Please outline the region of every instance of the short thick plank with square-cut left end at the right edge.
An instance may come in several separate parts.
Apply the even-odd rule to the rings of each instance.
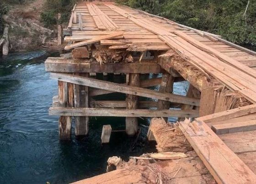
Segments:
[[[256,120],[212,125],[212,130],[216,134],[235,133],[235,132],[256,130]]]

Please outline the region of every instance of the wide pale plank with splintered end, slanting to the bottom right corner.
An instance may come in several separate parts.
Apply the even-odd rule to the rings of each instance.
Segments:
[[[185,120],[179,127],[219,184],[256,181],[251,169],[204,122]]]

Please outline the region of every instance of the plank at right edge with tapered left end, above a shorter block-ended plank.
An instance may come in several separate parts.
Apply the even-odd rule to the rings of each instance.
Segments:
[[[256,112],[256,104],[234,108],[224,112],[217,112],[207,116],[197,118],[198,121],[204,121],[205,123],[215,122],[215,121],[224,121],[231,118],[237,118],[240,116],[245,116],[247,114]]]

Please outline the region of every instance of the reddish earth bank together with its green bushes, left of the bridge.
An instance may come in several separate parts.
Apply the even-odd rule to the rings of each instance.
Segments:
[[[57,24],[69,21],[75,2],[76,0],[1,0],[0,38],[5,24],[8,24],[10,51],[30,51],[41,47],[60,49],[56,39]],[[62,15],[60,21],[58,13]]]

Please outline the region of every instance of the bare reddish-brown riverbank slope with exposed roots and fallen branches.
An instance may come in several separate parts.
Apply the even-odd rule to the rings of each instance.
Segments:
[[[9,26],[9,51],[32,51],[42,48],[62,50],[58,46],[57,25],[53,30],[43,27],[40,14],[45,0],[30,0],[24,4],[8,5],[9,12],[3,16]]]

